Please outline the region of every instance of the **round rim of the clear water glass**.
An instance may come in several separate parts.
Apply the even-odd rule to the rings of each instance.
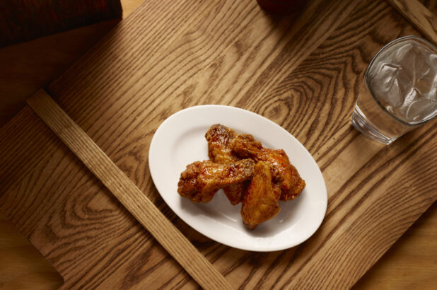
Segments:
[[[422,44],[428,45],[429,47],[431,47],[431,49],[435,50],[437,53],[437,47],[436,45],[433,45],[431,42],[429,42],[428,40],[425,40],[419,36],[416,35],[407,35],[407,36],[403,36],[400,38],[397,38],[395,40],[392,40],[390,42],[388,42],[388,44],[384,45],[380,50],[378,50],[378,52],[376,52],[376,54],[373,56],[371,62],[368,64],[366,72],[364,74],[364,81],[366,81],[366,86],[368,88],[368,91],[371,93],[373,100],[375,100],[375,102],[380,106],[381,109],[383,109],[383,111],[385,113],[387,113],[390,117],[392,117],[393,119],[395,119],[397,122],[400,122],[402,124],[404,124],[407,127],[416,127],[419,126],[421,124],[426,124],[427,122],[430,122],[434,119],[436,119],[437,114],[434,115],[433,117],[423,120],[421,122],[416,122],[414,124],[411,124],[409,122],[405,122],[404,120],[401,120],[400,118],[396,117],[395,115],[392,115],[392,113],[390,113],[387,109],[385,109],[385,107],[383,106],[383,104],[380,103],[380,101],[375,97],[375,94],[373,93],[373,89],[371,88],[371,86],[369,86],[369,81],[368,81],[368,74],[370,69],[373,66],[373,63],[375,62],[375,59],[378,58],[378,56],[385,50],[387,50],[389,47],[391,47],[392,45],[397,44],[398,42],[402,42],[404,40],[416,40],[418,42],[422,42]]]

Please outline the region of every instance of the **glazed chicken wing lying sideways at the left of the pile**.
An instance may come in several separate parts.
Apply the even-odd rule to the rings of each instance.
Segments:
[[[251,159],[225,164],[195,161],[180,174],[177,192],[192,202],[210,202],[217,190],[250,180],[254,166]]]

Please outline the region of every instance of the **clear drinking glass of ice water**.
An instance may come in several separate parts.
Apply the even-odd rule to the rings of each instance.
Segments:
[[[437,47],[416,36],[385,45],[366,69],[351,124],[390,144],[437,115]]]

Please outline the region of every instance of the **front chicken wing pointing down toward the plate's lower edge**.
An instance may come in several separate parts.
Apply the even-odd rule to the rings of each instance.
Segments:
[[[272,219],[281,208],[279,195],[272,185],[269,163],[260,161],[255,164],[250,182],[241,206],[241,216],[247,228],[254,229],[258,224]]]

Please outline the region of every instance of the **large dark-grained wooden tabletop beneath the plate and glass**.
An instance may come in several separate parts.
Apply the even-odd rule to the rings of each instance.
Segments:
[[[373,54],[418,33],[385,2],[319,2],[276,18],[254,1],[146,1],[47,88],[236,286],[351,286],[436,199],[432,124],[391,146],[349,125]],[[148,173],[150,139],[165,117],[204,103],[269,117],[313,154],[329,204],[308,242],[275,253],[235,250],[163,203]],[[30,108],[4,127],[1,148],[1,209],[65,287],[195,285]]]

